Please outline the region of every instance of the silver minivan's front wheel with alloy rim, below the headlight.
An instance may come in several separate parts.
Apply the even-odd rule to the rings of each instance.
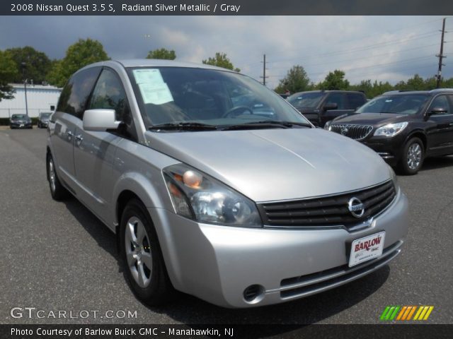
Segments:
[[[143,204],[127,203],[120,224],[120,250],[132,291],[146,304],[156,306],[173,299],[156,230]]]

